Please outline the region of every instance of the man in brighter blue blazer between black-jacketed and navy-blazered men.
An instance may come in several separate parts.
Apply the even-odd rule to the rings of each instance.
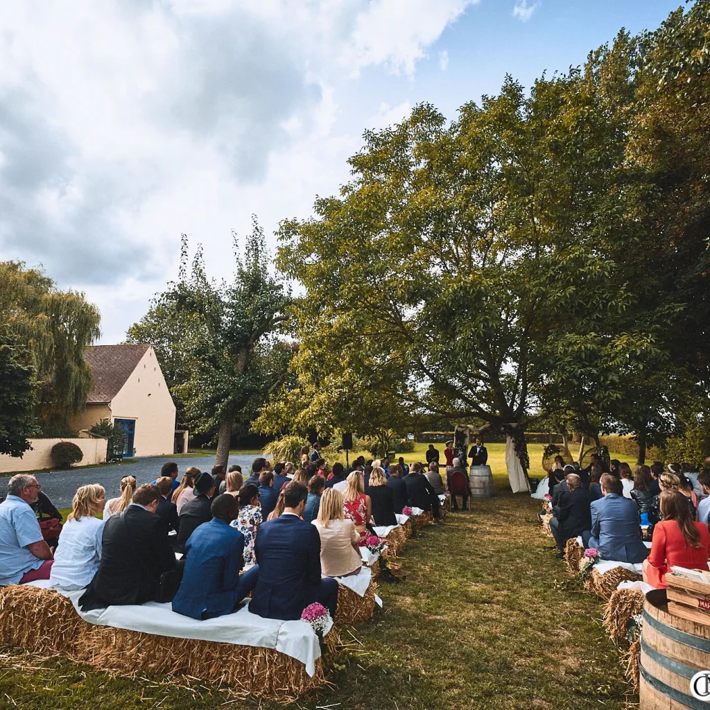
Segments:
[[[212,520],[185,543],[185,569],[173,611],[194,619],[211,619],[234,611],[256,584],[258,567],[239,576],[244,566],[244,535],[232,528],[239,505],[227,493],[210,506]]]

